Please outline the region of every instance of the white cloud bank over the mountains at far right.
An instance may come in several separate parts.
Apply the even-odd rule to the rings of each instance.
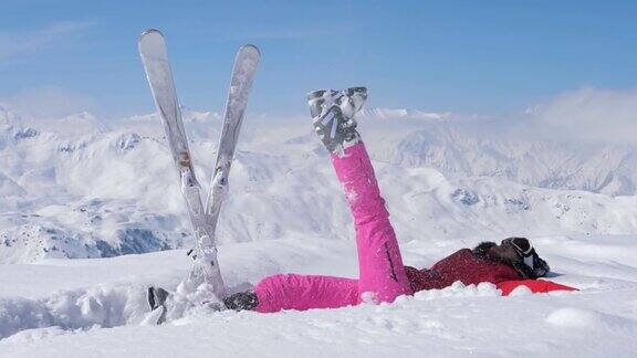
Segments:
[[[637,88],[587,86],[504,115],[368,108],[362,117],[420,119],[413,123],[451,126],[480,138],[637,146]]]

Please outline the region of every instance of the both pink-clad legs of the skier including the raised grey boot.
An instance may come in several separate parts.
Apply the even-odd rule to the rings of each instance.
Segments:
[[[364,87],[307,95],[314,128],[331,152],[354,217],[359,280],[296,274],[265,277],[254,287],[255,310],[336,308],[413,294],[372,161],[356,131],[354,114],[366,98]]]

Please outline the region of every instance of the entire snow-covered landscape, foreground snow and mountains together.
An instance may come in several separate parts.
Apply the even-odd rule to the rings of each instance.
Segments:
[[[361,119],[404,261],[528,235],[550,280],[579,292],[457,283],[390,305],[199,308],[142,326],[145,287],[174,289],[191,242],[158,119],[31,120],[0,106],[0,357],[635,356],[634,149],[481,139],[451,117]],[[220,117],[186,122],[209,178]],[[307,118],[249,117],[230,180],[219,259],[232,289],[281,272],[356,276],[349,213]]]

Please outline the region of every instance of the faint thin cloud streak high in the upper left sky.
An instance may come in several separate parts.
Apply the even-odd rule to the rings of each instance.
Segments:
[[[92,25],[92,22],[64,21],[34,31],[0,32],[0,59],[41,51],[62,36],[76,33]]]

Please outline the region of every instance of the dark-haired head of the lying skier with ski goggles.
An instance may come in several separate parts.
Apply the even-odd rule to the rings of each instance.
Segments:
[[[525,238],[508,238],[499,245],[493,242],[483,242],[473,252],[511,265],[524,278],[542,277],[550,270],[549,264],[540,259],[529,239]]]

